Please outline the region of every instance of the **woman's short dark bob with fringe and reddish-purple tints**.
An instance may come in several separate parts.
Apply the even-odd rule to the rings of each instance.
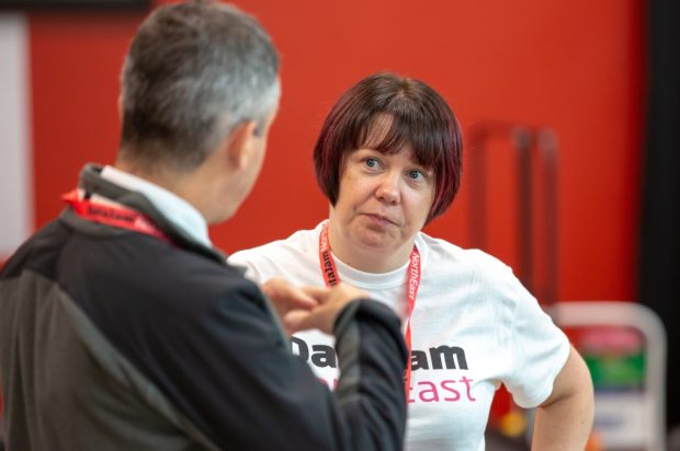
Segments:
[[[317,183],[335,206],[347,157],[369,144],[381,117],[392,119],[389,129],[370,147],[396,153],[410,144],[418,164],[435,174],[430,222],[449,208],[461,186],[463,136],[446,101],[422,81],[379,72],[345,91],[326,117],[314,149]]]

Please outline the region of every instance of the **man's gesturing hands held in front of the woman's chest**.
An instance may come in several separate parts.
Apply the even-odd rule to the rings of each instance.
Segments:
[[[291,310],[282,316],[286,331],[295,333],[307,328],[318,328],[327,334],[333,333],[333,325],[338,313],[347,304],[358,299],[366,299],[365,291],[347,284],[338,284],[331,288],[303,287],[303,292],[318,302],[311,310]]]

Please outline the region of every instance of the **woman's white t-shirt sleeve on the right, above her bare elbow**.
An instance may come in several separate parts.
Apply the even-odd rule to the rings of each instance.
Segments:
[[[569,340],[536,299],[512,276],[515,311],[510,324],[510,371],[505,381],[514,402],[536,407],[553,391],[553,382],[569,356]]]

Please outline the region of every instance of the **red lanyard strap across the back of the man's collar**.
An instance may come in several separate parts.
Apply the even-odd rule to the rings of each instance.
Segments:
[[[171,243],[168,235],[150,218],[139,211],[123,206],[112,206],[92,201],[88,198],[80,198],[78,189],[66,193],[61,196],[61,199],[70,205],[76,215],[88,221],[133,230]]]

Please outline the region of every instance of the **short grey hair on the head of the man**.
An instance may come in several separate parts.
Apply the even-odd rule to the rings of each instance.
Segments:
[[[118,158],[191,170],[238,124],[254,120],[261,132],[281,95],[279,65],[269,34],[236,7],[158,8],[123,66]]]

